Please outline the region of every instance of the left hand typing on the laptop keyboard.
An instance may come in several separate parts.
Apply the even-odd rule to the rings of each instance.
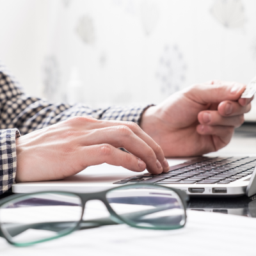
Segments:
[[[64,179],[102,163],[134,172],[169,170],[163,150],[133,122],[77,116],[17,138],[16,148],[16,182]]]

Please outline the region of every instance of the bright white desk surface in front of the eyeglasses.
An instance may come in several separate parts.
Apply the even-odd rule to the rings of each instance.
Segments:
[[[255,256],[255,230],[253,218],[188,211],[188,223],[179,230],[141,230],[116,225],[77,231],[27,248],[15,248],[0,239],[0,255]]]

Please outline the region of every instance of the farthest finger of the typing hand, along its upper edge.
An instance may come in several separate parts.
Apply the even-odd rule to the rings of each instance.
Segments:
[[[135,124],[134,122],[124,122],[124,121],[105,121],[105,120],[100,120],[99,122],[95,122],[93,125],[93,128],[103,128],[103,127],[116,127],[116,126],[127,126],[129,129],[131,129],[136,136],[141,138],[141,140],[145,141],[147,145],[152,148],[154,153],[156,154],[156,158],[158,161],[161,163],[163,167],[163,172],[168,172],[170,170],[170,166],[168,164],[168,161],[166,161],[164,157],[164,152],[162,148],[157,145],[156,141],[154,141],[150,136],[148,136],[147,133],[145,133],[139,125]],[[128,150],[128,149],[127,149]],[[129,150],[128,150],[129,151]]]

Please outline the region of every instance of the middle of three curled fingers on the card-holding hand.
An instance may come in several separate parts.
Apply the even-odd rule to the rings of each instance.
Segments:
[[[244,115],[221,116],[218,111],[201,111],[198,113],[198,122],[204,125],[224,125],[239,127],[244,122]]]

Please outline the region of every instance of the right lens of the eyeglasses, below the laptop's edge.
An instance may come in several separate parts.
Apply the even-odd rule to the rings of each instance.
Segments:
[[[164,187],[120,187],[106,195],[111,208],[134,227],[174,229],[183,227],[186,212],[179,195]]]

